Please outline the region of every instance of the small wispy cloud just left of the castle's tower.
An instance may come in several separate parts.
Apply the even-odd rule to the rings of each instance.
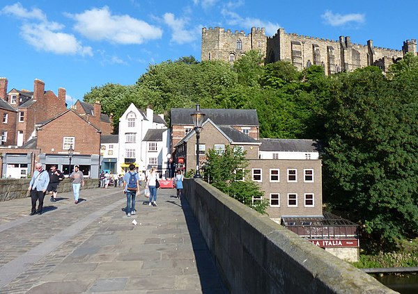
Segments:
[[[201,26],[192,30],[185,29],[185,25],[188,22],[187,18],[177,18],[173,13],[165,13],[163,16],[164,23],[167,24],[172,30],[171,42],[176,44],[185,44],[193,42],[196,38],[199,38],[201,34]]]

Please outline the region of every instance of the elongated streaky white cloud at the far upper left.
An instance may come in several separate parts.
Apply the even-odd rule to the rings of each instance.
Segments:
[[[20,3],[5,6],[1,13],[20,17],[26,22],[20,26],[20,35],[31,46],[39,51],[54,54],[79,54],[92,56],[91,47],[84,47],[74,35],[63,33],[63,24],[49,22],[42,10],[27,10]]]

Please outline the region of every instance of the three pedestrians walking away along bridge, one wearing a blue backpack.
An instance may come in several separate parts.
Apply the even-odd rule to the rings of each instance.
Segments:
[[[125,212],[127,216],[135,214],[135,200],[137,195],[139,195],[139,186],[141,178],[139,174],[134,172],[135,165],[129,165],[129,172],[123,177],[123,193],[126,195],[126,209]],[[173,179],[177,189],[177,198],[181,197],[183,191],[183,174],[181,170],[178,170],[176,177]],[[146,178],[145,188],[149,190],[149,206],[157,206],[157,181],[158,173],[155,167],[151,168],[148,177]]]

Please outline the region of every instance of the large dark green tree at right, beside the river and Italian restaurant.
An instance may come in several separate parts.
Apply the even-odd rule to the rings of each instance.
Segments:
[[[334,79],[326,117],[325,199],[380,244],[418,234],[418,107],[377,67]]]

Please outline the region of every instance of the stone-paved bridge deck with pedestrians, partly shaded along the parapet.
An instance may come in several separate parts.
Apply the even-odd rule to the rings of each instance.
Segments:
[[[174,189],[142,191],[127,217],[121,188],[0,202],[0,293],[226,293],[199,225]],[[136,220],[137,224],[132,221]]]

